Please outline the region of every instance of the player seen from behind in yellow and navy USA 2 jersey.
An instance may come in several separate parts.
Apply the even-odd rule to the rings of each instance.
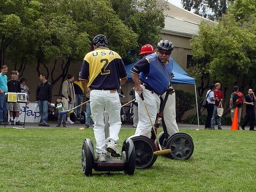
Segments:
[[[87,96],[90,95],[91,111],[96,140],[96,160],[105,162],[106,151],[113,157],[120,157],[117,148],[121,128],[121,103],[117,89],[126,82],[127,72],[122,58],[108,48],[108,39],[97,35],[92,40],[93,51],[86,54],[79,73],[79,79]],[[89,91],[89,89],[91,91]],[[104,109],[109,112],[110,137],[105,139]],[[105,144],[108,146],[105,148]]]

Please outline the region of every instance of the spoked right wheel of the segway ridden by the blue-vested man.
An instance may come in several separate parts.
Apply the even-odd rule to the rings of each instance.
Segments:
[[[179,132],[167,139],[165,148],[170,148],[171,153],[166,156],[171,159],[189,159],[194,152],[194,143],[188,134]]]

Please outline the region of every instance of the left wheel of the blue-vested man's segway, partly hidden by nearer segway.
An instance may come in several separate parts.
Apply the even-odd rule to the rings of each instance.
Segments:
[[[135,168],[150,168],[157,160],[157,156],[153,154],[157,151],[155,143],[150,138],[142,135],[132,137],[131,139],[135,147]]]

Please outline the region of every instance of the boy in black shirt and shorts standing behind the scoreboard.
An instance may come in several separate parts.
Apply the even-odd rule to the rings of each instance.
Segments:
[[[8,87],[8,92],[12,93],[21,93],[20,89],[20,82],[17,80],[17,71],[12,71],[11,72],[11,79],[7,81],[7,87]],[[9,109],[9,114],[10,114],[10,124],[11,125],[23,125],[19,121],[19,112],[20,112],[20,106],[18,102],[9,102],[8,103],[8,109]],[[16,122],[14,123],[13,119],[13,112],[15,112],[16,116]]]

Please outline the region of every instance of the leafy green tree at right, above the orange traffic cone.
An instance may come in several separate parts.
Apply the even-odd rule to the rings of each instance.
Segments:
[[[236,3],[230,6],[230,11],[218,20],[218,24],[201,23],[198,36],[191,39],[197,66],[190,68],[190,72],[201,82],[200,96],[207,89],[206,79],[207,84],[209,79],[222,82],[224,99],[230,84],[238,85],[241,92],[255,86],[255,17],[253,14],[247,19],[238,17],[236,8]],[[226,113],[228,109],[227,105]]]

